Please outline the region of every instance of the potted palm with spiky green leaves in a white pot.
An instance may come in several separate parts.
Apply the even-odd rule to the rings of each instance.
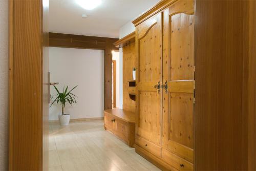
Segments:
[[[56,88],[56,86],[54,86],[55,90],[57,91],[57,94],[56,95],[53,95],[51,97],[52,98],[55,98],[52,102],[52,104],[50,105],[50,107],[53,105],[54,102],[57,102],[60,103],[62,105],[62,109],[61,109],[61,115],[59,115],[59,123],[60,125],[68,125],[69,124],[69,120],[70,120],[70,114],[65,114],[64,113],[64,110],[65,110],[65,105],[66,105],[66,102],[68,102],[70,105],[72,105],[73,103],[76,103],[76,99],[75,99],[75,95],[73,93],[71,93],[76,87],[74,87],[73,89],[71,89],[69,92],[68,92],[68,87],[63,87],[63,92],[60,93],[59,90]]]

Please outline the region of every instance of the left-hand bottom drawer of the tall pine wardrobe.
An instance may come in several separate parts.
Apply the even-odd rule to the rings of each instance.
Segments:
[[[156,144],[147,141],[139,136],[136,136],[135,142],[140,147],[144,148],[146,151],[152,153],[153,155],[161,158],[162,148]]]

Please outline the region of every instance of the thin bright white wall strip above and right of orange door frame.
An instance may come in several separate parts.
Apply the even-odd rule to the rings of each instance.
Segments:
[[[112,60],[116,60],[116,108],[120,108],[120,58],[119,52],[112,52]]]

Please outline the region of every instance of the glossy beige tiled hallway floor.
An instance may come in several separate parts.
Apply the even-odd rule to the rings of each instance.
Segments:
[[[50,124],[49,170],[159,170],[111,133],[103,121]]]

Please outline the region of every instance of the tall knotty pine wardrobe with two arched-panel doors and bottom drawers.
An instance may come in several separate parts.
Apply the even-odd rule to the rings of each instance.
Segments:
[[[136,152],[163,169],[193,170],[194,1],[161,1],[143,15],[133,22]]]

